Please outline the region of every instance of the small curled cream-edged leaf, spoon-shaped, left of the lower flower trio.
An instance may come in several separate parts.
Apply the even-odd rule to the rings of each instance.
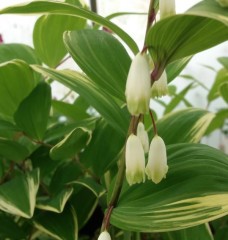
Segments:
[[[54,160],[66,160],[74,157],[89,143],[91,132],[85,128],[76,128],[50,151]]]

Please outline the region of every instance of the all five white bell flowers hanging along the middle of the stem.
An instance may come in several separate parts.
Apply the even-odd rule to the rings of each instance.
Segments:
[[[138,53],[133,59],[126,83],[127,107],[131,115],[138,117],[149,111],[150,97],[161,97],[168,93],[167,76],[164,71],[151,87],[151,71],[146,54]],[[132,131],[134,132],[134,131]],[[126,178],[129,185],[145,181],[145,175],[154,183],[165,178],[168,171],[165,143],[155,134],[149,145],[144,124],[139,122],[137,133],[126,142]],[[145,154],[148,153],[146,164]]]

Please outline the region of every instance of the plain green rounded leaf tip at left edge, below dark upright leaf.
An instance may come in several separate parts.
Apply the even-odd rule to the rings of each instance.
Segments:
[[[22,144],[0,138],[0,156],[11,161],[20,162],[28,157],[29,151]]]

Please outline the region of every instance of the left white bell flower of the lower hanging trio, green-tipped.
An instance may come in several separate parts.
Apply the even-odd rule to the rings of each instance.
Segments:
[[[145,181],[145,156],[140,139],[131,134],[126,143],[126,178],[129,185]]]

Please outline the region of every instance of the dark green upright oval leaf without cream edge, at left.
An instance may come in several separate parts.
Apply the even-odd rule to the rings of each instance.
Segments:
[[[14,120],[28,136],[42,140],[47,128],[51,107],[51,88],[39,83],[19,105]]]

